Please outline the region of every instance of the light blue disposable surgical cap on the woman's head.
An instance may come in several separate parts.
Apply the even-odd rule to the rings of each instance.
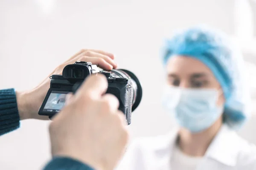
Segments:
[[[227,35],[207,26],[192,27],[166,40],[162,52],[164,64],[182,55],[207,65],[224,92],[224,122],[239,130],[251,114],[249,86],[241,51]]]

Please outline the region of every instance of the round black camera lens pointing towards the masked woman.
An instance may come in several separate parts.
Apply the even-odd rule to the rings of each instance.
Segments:
[[[133,101],[131,110],[134,111],[138,107],[142,99],[142,87],[140,85],[139,79],[135,76],[134,73],[125,69],[111,70],[111,74],[116,78],[120,77],[131,79],[131,83],[133,86]]]

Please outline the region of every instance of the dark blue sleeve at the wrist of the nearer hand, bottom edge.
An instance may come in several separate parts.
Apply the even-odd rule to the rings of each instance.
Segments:
[[[80,161],[55,157],[44,167],[44,170],[94,170],[92,167],[81,163]]]

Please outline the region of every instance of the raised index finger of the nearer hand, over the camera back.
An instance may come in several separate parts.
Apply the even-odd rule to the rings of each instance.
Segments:
[[[108,81],[104,75],[92,75],[85,79],[75,95],[77,97],[90,95],[93,98],[100,98],[107,88]]]

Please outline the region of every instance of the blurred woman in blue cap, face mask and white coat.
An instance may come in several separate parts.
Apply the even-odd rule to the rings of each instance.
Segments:
[[[120,170],[256,170],[256,147],[239,137],[250,115],[242,56],[222,33],[189,28],[164,47],[163,105],[179,127],[135,140]]]

